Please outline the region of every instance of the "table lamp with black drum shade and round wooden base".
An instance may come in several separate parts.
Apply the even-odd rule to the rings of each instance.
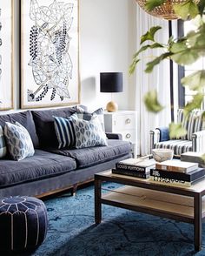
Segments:
[[[100,73],[100,91],[101,92],[122,92],[122,72],[103,72]],[[114,101],[110,101],[106,110],[116,112],[118,105]]]

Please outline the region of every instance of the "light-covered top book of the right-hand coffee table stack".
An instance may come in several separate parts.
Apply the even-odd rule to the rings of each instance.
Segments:
[[[167,160],[162,163],[156,163],[155,169],[170,171],[170,172],[191,172],[199,167],[196,163],[182,162],[180,160]]]

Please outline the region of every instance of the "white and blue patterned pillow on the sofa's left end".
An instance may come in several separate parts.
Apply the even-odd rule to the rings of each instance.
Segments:
[[[31,157],[34,155],[34,146],[30,138],[30,133],[16,122],[10,124],[5,122],[4,135],[8,145],[11,158],[16,161],[23,158]]]

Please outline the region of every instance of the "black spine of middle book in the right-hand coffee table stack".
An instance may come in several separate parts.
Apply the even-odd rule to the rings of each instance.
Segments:
[[[183,173],[183,172],[168,172],[168,171],[163,171],[163,170],[151,169],[150,175],[159,177],[162,179],[177,179],[177,180],[191,182],[190,175],[188,175],[187,173]]]

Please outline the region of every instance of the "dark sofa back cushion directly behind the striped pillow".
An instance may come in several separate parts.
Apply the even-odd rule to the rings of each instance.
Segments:
[[[32,111],[40,145],[44,148],[58,147],[53,117],[69,118],[76,111],[76,106],[46,111]]]

